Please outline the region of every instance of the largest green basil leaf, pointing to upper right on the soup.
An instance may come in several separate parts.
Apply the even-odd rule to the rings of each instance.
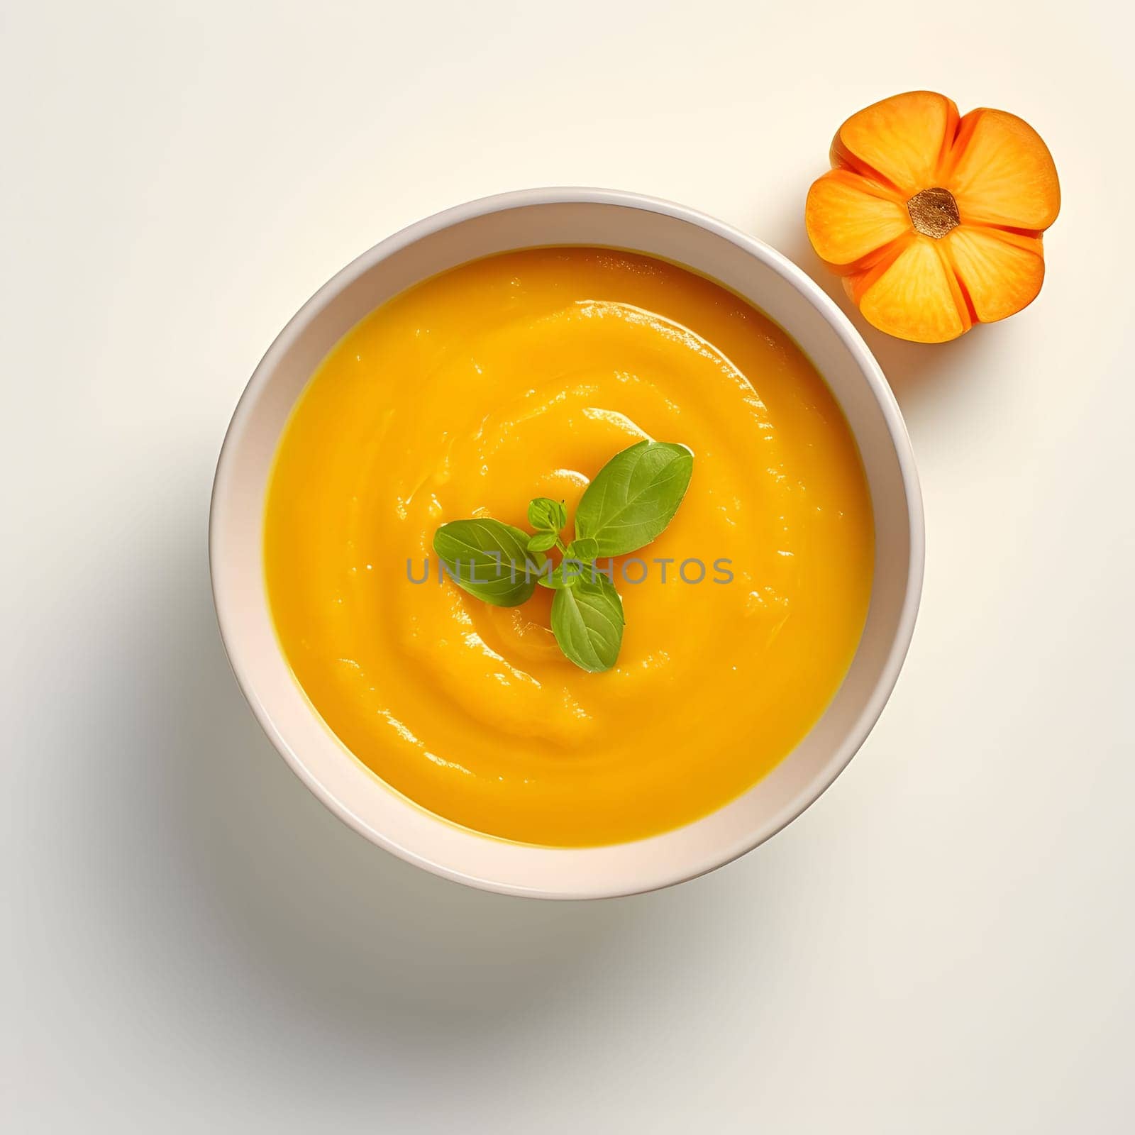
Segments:
[[[577,539],[594,539],[597,556],[637,552],[671,522],[692,472],[693,453],[684,445],[639,442],[616,453],[575,510]]]

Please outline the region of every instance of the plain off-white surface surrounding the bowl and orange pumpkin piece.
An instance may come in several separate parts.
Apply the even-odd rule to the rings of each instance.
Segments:
[[[0,1126],[1132,1129],[1129,5],[0,12]],[[276,333],[398,227],[539,184],[682,201],[821,276],[831,135],[919,86],[1033,123],[1063,211],[1008,323],[865,330],[928,564],[849,770],[740,863],[602,903],[347,831],[209,596],[213,463]]]

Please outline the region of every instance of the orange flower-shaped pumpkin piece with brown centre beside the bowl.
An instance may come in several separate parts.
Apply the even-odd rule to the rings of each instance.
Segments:
[[[1060,183],[1026,121],[908,91],[852,115],[830,158],[808,238],[874,327],[944,343],[1036,299]]]

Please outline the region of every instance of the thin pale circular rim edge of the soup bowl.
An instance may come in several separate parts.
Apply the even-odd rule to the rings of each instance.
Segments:
[[[691,863],[688,869],[671,871],[665,875],[641,881],[641,885],[627,886],[623,884],[611,885],[602,878],[594,880],[587,886],[571,885],[561,886],[555,890],[535,891],[530,888],[520,886],[514,883],[498,880],[485,878],[477,875],[464,874],[459,869],[445,864],[434,861],[431,858],[401,846],[395,840],[386,838],[381,832],[376,831],[361,816],[355,814],[348,804],[344,802],[301,762],[293,751],[287,739],[277,728],[271,715],[262,704],[255,688],[251,667],[244,656],[239,644],[232,636],[226,634],[225,620],[221,614],[225,602],[221,595],[222,585],[218,577],[221,574],[218,561],[218,501],[229,487],[233,477],[233,466],[236,461],[237,444],[245,432],[245,427],[253,413],[254,405],[262,388],[268,384],[271,373],[278,362],[292,347],[294,340],[305,329],[310,320],[323,309],[339,292],[350,284],[369,271],[380,261],[394,253],[409,247],[415,242],[438,233],[451,226],[477,217],[487,216],[495,212],[503,212],[513,209],[521,209],[532,205],[555,205],[555,204],[598,204],[598,205],[621,205],[647,212],[661,213],[676,220],[687,221],[698,228],[721,237],[731,244],[747,252],[764,267],[771,269],[788,281],[798,293],[800,293],[826,320],[829,326],[835,331],[840,342],[854,359],[864,379],[866,380],[872,395],[874,396],[884,424],[894,447],[896,459],[902,481],[903,497],[907,506],[907,529],[909,532],[909,558],[907,566],[907,578],[905,580],[905,592],[899,616],[896,625],[894,637],[891,641],[886,658],[881,667],[877,681],[874,684],[871,697],[856,717],[854,728],[848,731],[843,743],[832,754],[832,759],[825,765],[823,774],[809,781],[794,799],[779,813],[771,816],[764,824],[757,825],[738,844],[714,851],[703,857],[701,861]],[[649,254],[649,253],[647,253]],[[284,757],[292,771],[308,787],[308,789],[340,821],[364,836],[370,842],[396,855],[398,858],[422,867],[432,874],[449,878],[454,882],[464,883],[482,890],[496,891],[504,894],[549,898],[549,899],[592,899],[592,898],[616,898],[622,896],[646,893],[672,886],[676,883],[696,878],[718,867],[723,867],[733,860],[748,854],[754,848],[771,839],[777,832],[783,831],[804,812],[806,812],[827,789],[835,779],[850,764],[851,758],[859,751],[866,741],[875,723],[878,721],[886,705],[891,692],[898,681],[899,673],[906,659],[914,636],[915,622],[917,620],[918,606],[922,598],[923,578],[925,570],[926,538],[925,538],[925,514],[923,508],[922,489],[918,480],[918,472],[915,464],[914,448],[910,436],[907,431],[906,422],[899,409],[894,393],[886,381],[883,370],[872,354],[863,336],[851,323],[848,316],[839,305],[824,292],[819,285],[813,280],[799,266],[793,263],[783,253],[777,252],[771,245],[765,244],[757,237],[750,236],[741,229],[725,221],[718,220],[699,210],[688,205],[667,201],[662,197],[654,197],[627,190],[607,190],[583,186],[546,186],[529,190],[513,190],[505,193],[496,193],[489,196],[477,197],[462,204],[453,205],[440,212],[432,213],[405,226],[392,234],[378,244],[368,249],[356,257],[344,268],[330,277],[296,313],[287,321],[279,331],[271,345],[264,352],[263,358],[257,364],[251,378],[246,382],[244,390],[236,404],[225,438],[221,443],[220,454],[217,461],[217,470],[213,477],[212,493],[209,506],[209,574],[213,598],[213,611],[217,617],[221,644],[225,648],[229,666],[236,678],[245,700],[249,703],[257,721],[264,731],[274,748]],[[302,691],[301,691],[302,693]],[[310,706],[309,706],[310,707]],[[314,714],[313,707],[310,707]],[[318,714],[317,714],[318,716]],[[326,726],[325,726],[326,728]],[[348,759],[358,759],[344,749],[344,755]],[[397,794],[397,793],[396,793]],[[419,807],[413,801],[405,801],[407,807]],[[724,807],[724,806],[723,806]],[[422,809],[424,810],[424,809]],[[448,821],[443,817],[432,816],[438,823],[448,825]],[[472,832],[473,835],[485,836],[482,833]],[[656,838],[656,836],[650,836]],[[631,841],[645,842],[645,840]],[[529,844],[518,844],[518,848],[528,849]],[[580,848],[540,848],[541,851],[550,852],[578,852]]]

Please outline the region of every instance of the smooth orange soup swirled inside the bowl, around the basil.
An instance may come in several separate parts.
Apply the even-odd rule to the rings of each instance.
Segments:
[[[614,669],[564,657],[550,590],[504,608],[439,581],[439,524],[528,530],[537,496],[570,518],[644,438],[689,446],[693,474],[614,563]],[[855,654],[873,545],[847,422],[784,331],[686,269],[557,247],[427,280],[330,352],[279,445],[264,568],[292,670],[358,759],[455,824],[589,846],[695,821],[791,751]]]

